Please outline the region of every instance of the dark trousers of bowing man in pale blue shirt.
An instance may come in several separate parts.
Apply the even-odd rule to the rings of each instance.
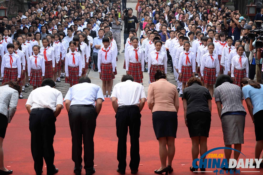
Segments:
[[[80,170],[82,164],[82,137],[84,145],[84,169],[93,171],[94,166],[94,133],[97,112],[88,105],[72,105],[68,112],[72,136],[72,160],[75,169]]]

